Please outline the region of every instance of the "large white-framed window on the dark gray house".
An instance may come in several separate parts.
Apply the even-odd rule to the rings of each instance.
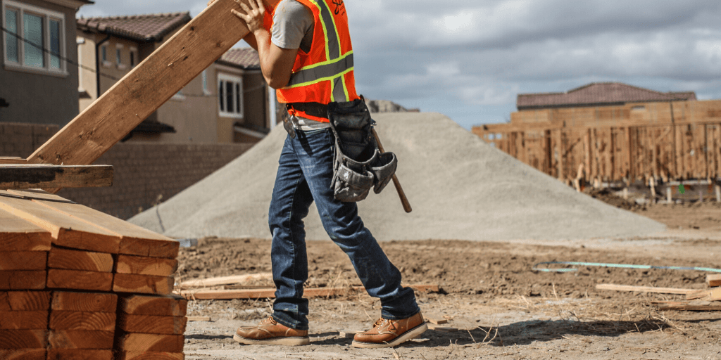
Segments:
[[[2,3],[4,62],[9,68],[63,73],[65,15],[6,0]]]

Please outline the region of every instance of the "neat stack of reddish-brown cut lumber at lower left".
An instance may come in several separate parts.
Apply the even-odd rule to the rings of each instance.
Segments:
[[[183,359],[178,248],[47,192],[0,191],[0,359]]]

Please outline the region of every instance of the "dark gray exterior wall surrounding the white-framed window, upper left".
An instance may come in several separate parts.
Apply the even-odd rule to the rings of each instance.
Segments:
[[[40,0],[14,0],[63,14],[63,57],[77,61],[75,9]],[[6,4],[6,0],[0,0]],[[1,8],[0,9],[4,9]],[[0,19],[4,17],[0,16]],[[3,23],[3,26],[5,24]],[[0,122],[26,122],[64,126],[78,114],[78,70],[64,63],[64,73],[26,70],[9,66],[5,61],[5,41],[0,36],[0,97],[9,107],[0,108]]]

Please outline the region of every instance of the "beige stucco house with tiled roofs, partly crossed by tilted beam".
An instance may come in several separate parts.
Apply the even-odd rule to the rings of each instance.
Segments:
[[[82,111],[190,22],[188,12],[77,19]],[[86,69],[99,69],[96,73]],[[125,140],[255,143],[270,132],[268,86],[251,48],[231,49]]]

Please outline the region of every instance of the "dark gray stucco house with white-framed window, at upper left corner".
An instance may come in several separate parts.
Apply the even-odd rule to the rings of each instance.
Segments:
[[[89,0],[0,0],[0,122],[64,126],[78,114],[76,12]]]

